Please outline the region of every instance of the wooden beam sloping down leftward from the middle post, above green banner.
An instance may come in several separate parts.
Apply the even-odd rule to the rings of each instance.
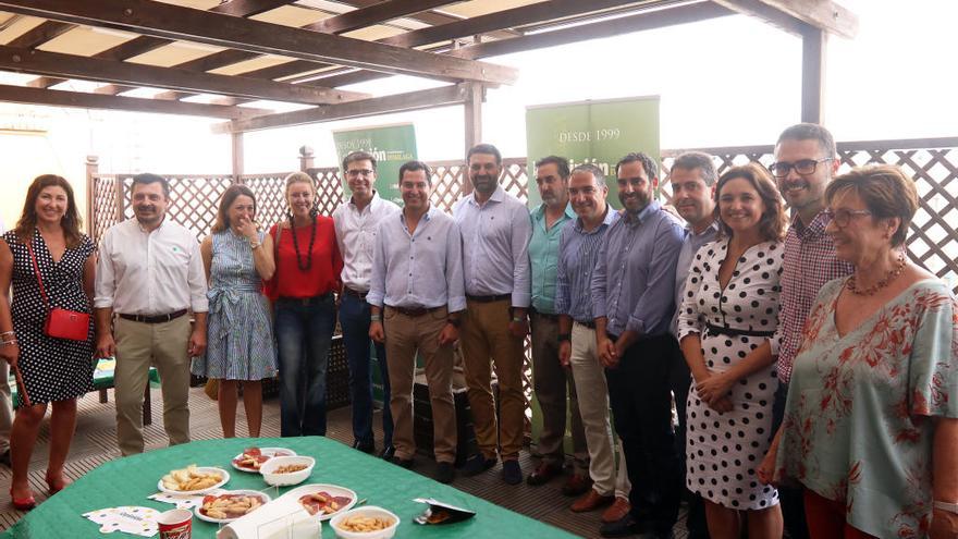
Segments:
[[[464,85],[440,86],[439,88],[374,97],[342,105],[328,105],[306,110],[242,119],[225,124],[213,125],[212,132],[238,133],[260,131],[273,127],[287,127],[291,125],[344,120],[348,118],[365,118],[389,114],[392,112],[431,109],[449,105],[462,105],[466,101],[466,94]]]

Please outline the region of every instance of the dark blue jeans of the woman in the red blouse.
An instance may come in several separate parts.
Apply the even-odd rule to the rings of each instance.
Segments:
[[[326,371],[336,327],[332,294],[275,303],[280,436],[326,436]]]

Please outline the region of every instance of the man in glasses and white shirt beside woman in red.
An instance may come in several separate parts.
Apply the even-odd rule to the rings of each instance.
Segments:
[[[353,401],[353,448],[365,453],[376,451],[372,438],[372,371],[369,340],[369,277],[372,249],[380,221],[400,212],[391,200],[380,198],[376,186],[376,158],[366,151],[353,151],[343,158],[343,173],[352,192],[349,200],[333,211],[336,243],[343,255],[343,289],[340,291],[340,326],[349,366],[349,396]],[[382,380],[382,457],[393,456],[393,417],[390,413],[389,367],[385,346],[376,343],[376,362]]]

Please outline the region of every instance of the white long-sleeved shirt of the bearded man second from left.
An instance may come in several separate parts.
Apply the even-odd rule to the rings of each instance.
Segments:
[[[170,219],[152,232],[127,219],[100,240],[94,307],[124,315],[206,313],[206,272],[199,243]]]

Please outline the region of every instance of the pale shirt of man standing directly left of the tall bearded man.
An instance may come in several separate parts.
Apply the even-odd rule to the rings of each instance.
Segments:
[[[405,212],[383,219],[366,301],[377,307],[465,309],[463,248],[455,221],[430,207],[410,234]]]

